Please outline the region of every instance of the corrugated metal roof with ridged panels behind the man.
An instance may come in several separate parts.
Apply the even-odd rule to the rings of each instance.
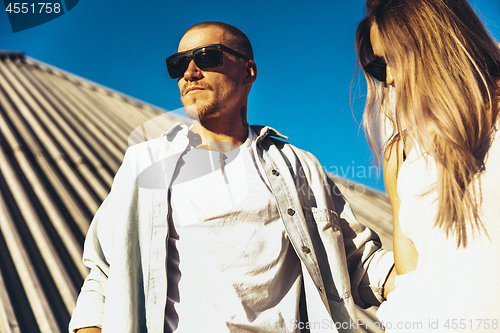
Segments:
[[[88,272],[85,234],[126,148],[176,122],[186,120],[0,51],[0,333],[67,331]],[[387,197],[337,183],[360,221],[390,246]],[[360,318],[374,319],[373,309]]]

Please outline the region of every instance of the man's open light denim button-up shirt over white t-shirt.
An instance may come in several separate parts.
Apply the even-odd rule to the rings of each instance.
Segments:
[[[354,302],[368,307],[383,300],[392,254],[356,221],[313,155],[273,138],[288,139],[270,127],[252,128],[258,134],[254,151],[259,167],[301,261],[309,322],[321,320],[315,310],[321,308],[338,331],[356,331]],[[189,144],[187,133],[178,124],[162,137],[127,150],[85,240],[83,261],[90,274],[70,332],[97,326],[104,333],[163,333],[167,189]]]

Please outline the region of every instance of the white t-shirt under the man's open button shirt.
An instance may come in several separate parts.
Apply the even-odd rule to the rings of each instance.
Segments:
[[[295,332],[300,263],[252,149],[188,149],[171,185],[166,332]]]

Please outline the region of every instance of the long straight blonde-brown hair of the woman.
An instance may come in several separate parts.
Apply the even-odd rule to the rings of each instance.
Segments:
[[[365,73],[367,138],[379,161],[387,143],[403,133],[432,155],[438,170],[436,226],[466,247],[468,227],[473,235],[486,231],[474,183],[499,113],[500,48],[466,0],[367,0],[356,33],[362,68],[375,58],[373,24],[394,76],[395,101],[387,112],[389,89]],[[394,128],[389,141],[381,140],[386,117]]]

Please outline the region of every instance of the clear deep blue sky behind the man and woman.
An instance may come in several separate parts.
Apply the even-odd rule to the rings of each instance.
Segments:
[[[469,1],[500,40],[500,1]],[[327,171],[384,190],[359,125],[364,78],[355,74],[354,34],[363,6],[364,0],[81,0],[61,17],[17,33],[2,10],[0,49],[176,110],[177,81],[165,58],[191,25],[233,24],[250,38],[258,68],[249,122],[275,127]]]

